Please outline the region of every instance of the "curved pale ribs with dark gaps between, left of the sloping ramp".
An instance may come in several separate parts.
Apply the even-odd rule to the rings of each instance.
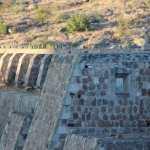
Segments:
[[[51,60],[48,54],[3,53],[0,55],[1,80],[21,87],[42,87]]]

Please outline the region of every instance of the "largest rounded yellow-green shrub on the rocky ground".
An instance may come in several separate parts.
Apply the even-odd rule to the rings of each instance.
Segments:
[[[66,29],[68,32],[86,31],[90,28],[90,22],[85,15],[74,15],[67,21]]]

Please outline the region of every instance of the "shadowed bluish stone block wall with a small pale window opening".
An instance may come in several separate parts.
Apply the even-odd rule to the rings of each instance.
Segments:
[[[62,124],[84,136],[148,136],[149,92],[149,53],[83,54],[68,89],[71,117]]]

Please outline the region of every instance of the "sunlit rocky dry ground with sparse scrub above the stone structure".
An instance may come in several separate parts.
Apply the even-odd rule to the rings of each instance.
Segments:
[[[90,28],[65,32],[68,20],[82,14]],[[0,18],[8,27],[0,45],[51,48],[144,48],[150,44],[150,0],[42,0],[5,4]]]

